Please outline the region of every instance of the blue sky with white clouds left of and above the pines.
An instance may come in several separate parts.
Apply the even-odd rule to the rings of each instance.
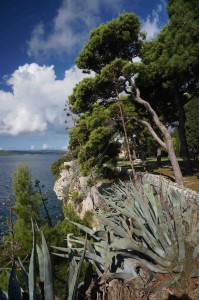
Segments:
[[[75,58],[122,12],[148,40],[167,22],[166,0],[0,0],[0,150],[66,149],[65,103],[86,76]]]

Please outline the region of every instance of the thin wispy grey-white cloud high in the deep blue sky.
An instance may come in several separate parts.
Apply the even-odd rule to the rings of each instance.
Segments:
[[[52,21],[51,31],[39,23],[28,41],[28,55],[38,57],[74,51],[87,39],[91,28],[101,22],[101,14],[119,12],[119,0],[63,0]]]

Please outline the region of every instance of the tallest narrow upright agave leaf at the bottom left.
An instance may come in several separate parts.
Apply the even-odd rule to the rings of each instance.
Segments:
[[[35,226],[32,222],[32,232],[33,232],[33,245],[32,245],[32,254],[30,258],[30,264],[29,264],[29,273],[28,273],[28,282],[29,282],[29,297],[30,300],[36,300],[37,294],[36,294],[36,232],[35,232]]]

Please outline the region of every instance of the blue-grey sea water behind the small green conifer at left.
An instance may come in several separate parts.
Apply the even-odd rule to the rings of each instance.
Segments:
[[[54,177],[50,171],[51,164],[60,157],[59,154],[24,154],[0,156],[0,236],[6,232],[6,219],[9,209],[5,205],[8,198],[13,199],[12,195],[12,173],[17,166],[25,162],[30,168],[33,184],[36,179],[44,185],[42,189],[45,197],[48,198],[49,214],[54,223],[61,218],[62,202],[57,199],[53,191]]]

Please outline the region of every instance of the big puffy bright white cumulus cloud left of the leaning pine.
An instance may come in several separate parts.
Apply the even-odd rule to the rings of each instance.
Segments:
[[[64,128],[65,101],[85,74],[76,67],[57,80],[54,66],[20,66],[7,79],[12,92],[0,90],[0,134],[45,133]]]

